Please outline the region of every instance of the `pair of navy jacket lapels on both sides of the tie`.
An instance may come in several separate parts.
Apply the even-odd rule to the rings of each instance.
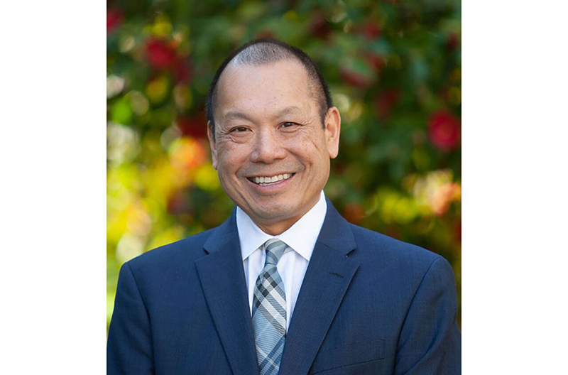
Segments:
[[[284,345],[280,375],[306,374],[359,263],[349,224],[327,201],[327,213],[302,281]],[[235,210],[213,229],[195,262],[203,292],[234,374],[258,374]],[[317,312],[317,316],[315,313]]]

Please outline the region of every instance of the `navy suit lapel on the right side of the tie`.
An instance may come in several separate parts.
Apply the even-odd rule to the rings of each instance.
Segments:
[[[359,263],[349,224],[327,200],[327,214],[294,308],[279,375],[307,374]]]

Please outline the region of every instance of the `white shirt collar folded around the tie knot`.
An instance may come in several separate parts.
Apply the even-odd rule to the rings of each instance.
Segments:
[[[241,254],[243,260],[247,259],[253,251],[272,238],[278,238],[290,246],[302,258],[310,261],[314,251],[315,242],[320,235],[324,224],[327,203],[322,190],[320,200],[304,216],[278,236],[266,234],[256,225],[253,220],[240,207],[236,207],[236,229],[239,232]]]

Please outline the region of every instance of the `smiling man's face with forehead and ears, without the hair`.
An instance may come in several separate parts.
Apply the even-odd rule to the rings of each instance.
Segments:
[[[322,126],[305,68],[296,61],[226,67],[218,82],[213,166],[226,194],[269,234],[320,198],[337,156],[337,108]]]

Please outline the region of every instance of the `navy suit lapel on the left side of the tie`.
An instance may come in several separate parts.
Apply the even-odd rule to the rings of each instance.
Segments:
[[[258,374],[235,212],[203,245],[195,262],[203,293],[234,374]]]

